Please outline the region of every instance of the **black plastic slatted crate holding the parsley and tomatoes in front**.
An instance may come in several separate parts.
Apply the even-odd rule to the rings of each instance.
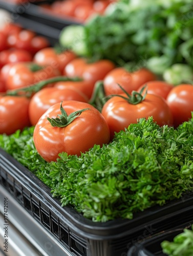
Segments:
[[[193,221],[193,196],[152,207],[133,220],[96,223],[61,207],[50,189],[0,148],[0,184],[61,246],[82,256],[124,256],[137,241]]]

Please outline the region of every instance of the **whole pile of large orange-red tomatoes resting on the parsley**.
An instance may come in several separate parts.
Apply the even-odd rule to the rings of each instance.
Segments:
[[[24,31],[7,26],[10,32],[4,31],[2,38]],[[145,68],[132,72],[110,60],[90,62],[70,50],[55,51],[46,45],[34,52],[29,46],[9,48],[8,40],[2,39],[1,47],[0,59],[8,51],[12,56],[14,51],[26,51],[30,58],[25,55],[25,60],[17,58],[1,68],[0,134],[35,125],[34,143],[47,161],[55,161],[62,151],[80,155],[95,143],[108,143],[142,117],[153,116],[160,126],[175,128],[191,117],[191,84],[174,86]],[[93,104],[99,92],[101,109]]]

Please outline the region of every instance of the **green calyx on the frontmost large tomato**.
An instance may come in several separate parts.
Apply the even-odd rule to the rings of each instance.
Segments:
[[[47,120],[51,123],[53,127],[66,127],[70,123],[74,121],[75,118],[77,118],[82,112],[90,110],[90,109],[83,109],[78,110],[73,113],[71,113],[69,116],[67,115],[67,112],[62,107],[62,101],[60,103],[60,111],[61,115],[57,115],[56,118],[49,118],[47,117]]]

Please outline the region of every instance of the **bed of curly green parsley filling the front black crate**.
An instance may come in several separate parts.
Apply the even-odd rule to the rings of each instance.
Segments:
[[[95,145],[79,157],[61,153],[51,163],[35,152],[31,134],[23,136],[21,142],[15,135],[0,136],[0,146],[32,169],[62,206],[71,205],[93,221],[132,219],[135,212],[181,198],[193,188],[193,116],[176,130],[160,127],[152,117],[140,119],[109,144]]]

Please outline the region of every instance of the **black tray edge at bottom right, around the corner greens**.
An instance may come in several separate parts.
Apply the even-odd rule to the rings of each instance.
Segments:
[[[161,248],[161,243],[164,240],[172,242],[174,238],[183,232],[184,228],[191,228],[191,223],[186,223],[181,228],[176,228],[145,239],[142,243],[137,243],[128,250],[127,256],[166,256]],[[182,255],[183,256],[183,255]]]

